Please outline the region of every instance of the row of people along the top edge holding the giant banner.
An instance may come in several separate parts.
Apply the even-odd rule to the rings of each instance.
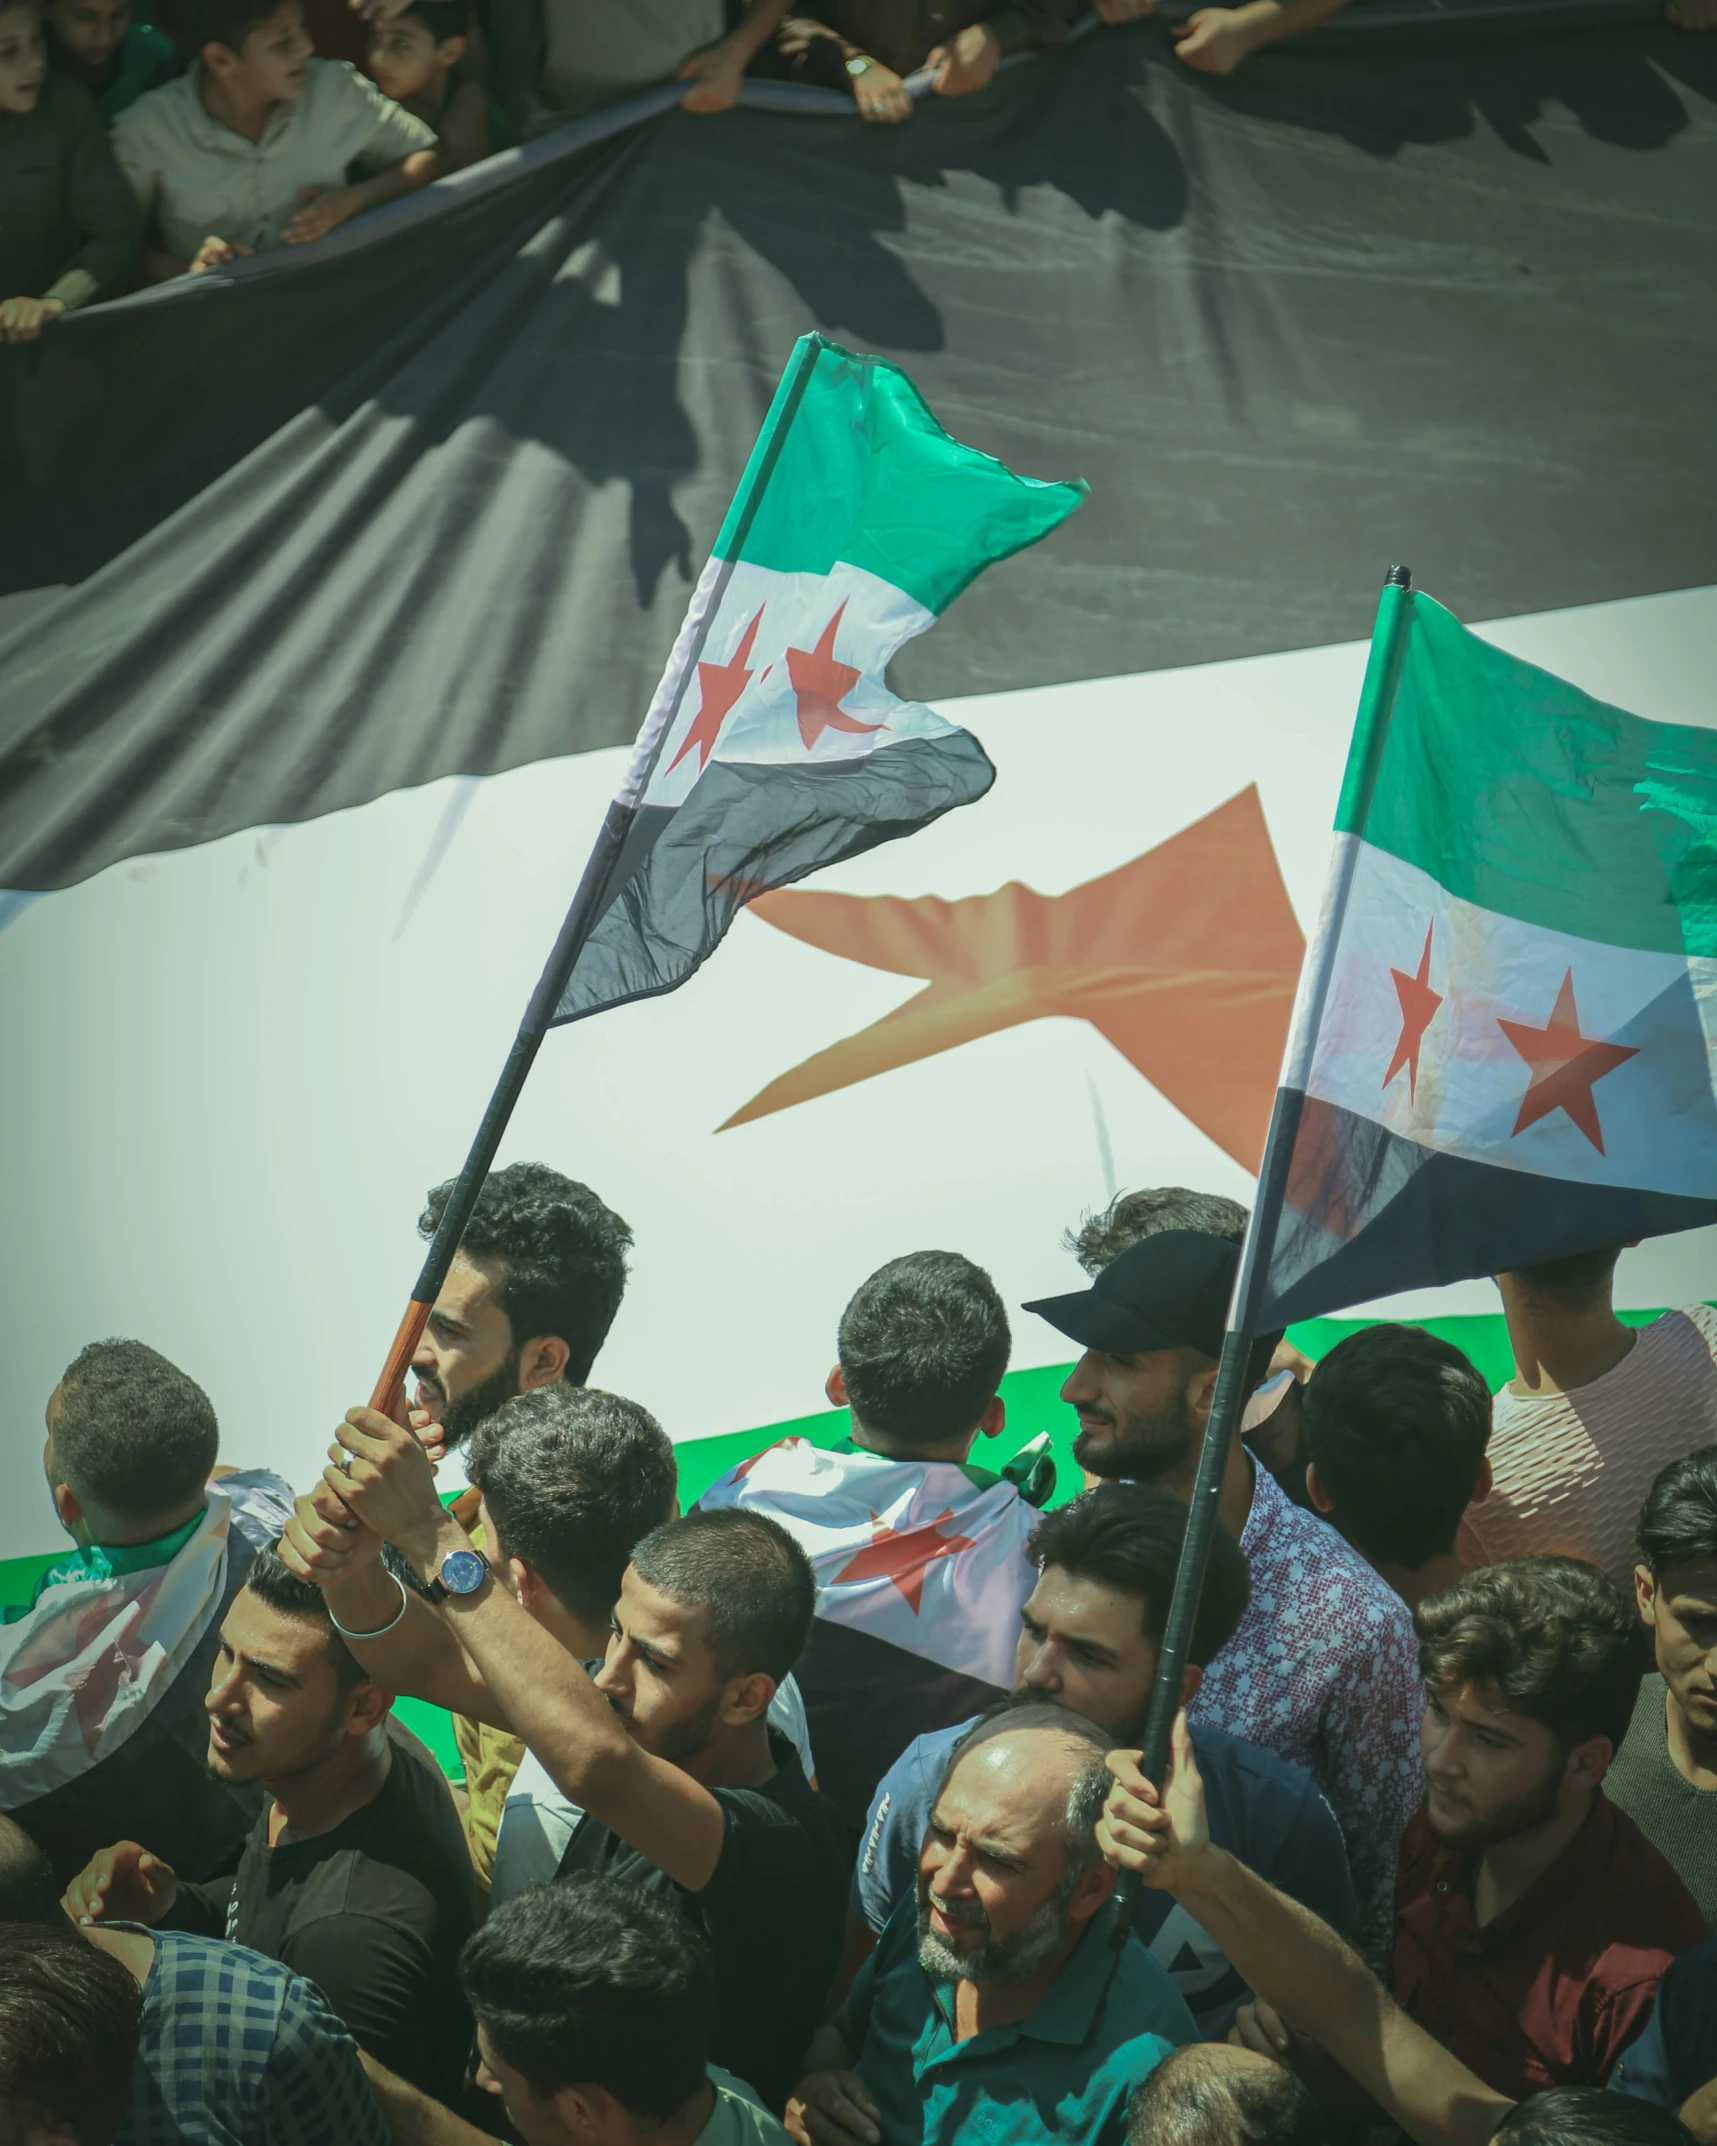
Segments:
[[[1157,0],[1095,0],[1101,21]],[[1348,0],[1236,0],[1174,24],[1228,75]],[[0,341],[146,283],[307,245],[528,135],[683,79],[747,75],[912,116],[1060,43],[1086,0],[0,0]],[[1717,0],[1670,0],[1683,28]]]

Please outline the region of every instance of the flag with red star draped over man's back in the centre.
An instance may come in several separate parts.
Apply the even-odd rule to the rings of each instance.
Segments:
[[[700,1504],[766,1513],[811,1560],[818,1614],[794,1674],[818,1785],[854,1824],[914,1736],[1013,1689],[1037,1513],[1004,1476],[783,1438]]]

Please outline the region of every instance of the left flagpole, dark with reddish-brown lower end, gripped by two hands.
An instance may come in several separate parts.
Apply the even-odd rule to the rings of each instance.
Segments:
[[[648,790],[650,775],[661,758],[667,732],[674,727],[674,717],[680,710],[685,689],[698,674],[698,657],[704,652],[710,624],[721,609],[721,597],[732,579],[734,564],[745,549],[745,536],[755,519],[775,464],[781,459],[788,427],[792,425],[798,403],[805,399],[805,388],[809,386],[811,371],[816,369],[818,352],[824,348],[826,339],[822,335],[801,335],[794,343],[792,358],[788,361],[788,369],[781,376],[781,384],[777,386],[768,416],[764,418],[764,433],[751,453],[751,461],[745,466],[740,494],[734,496],[734,504],[730,509],[732,541],[728,543],[719,571],[710,575],[706,584],[700,584],[691,612],[680,627],[680,637],[667,659],[667,674],[663,676],[657,697],[650,704],[650,712],[644,719],[644,727],[637,734],[637,745],[633,747],[631,762],[627,764],[625,781],[607,807],[601,833],[590,850],[584,876],[577,882],[573,906],[567,910],[554,951],[543,964],[543,974],[537,979],[530,1004],[524,1009],[524,1019],[519,1021],[519,1032],[513,1037],[507,1064],[500,1069],[500,1079],[496,1082],[483,1112],[483,1120],[476,1127],[476,1137],[466,1152],[464,1167],[453,1180],[453,1191],[446,1197],[436,1234],[429,1238],[429,1251],[425,1253],[423,1268],[412,1283],[412,1296],[399,1320],[399,1328],[395,1331],[393,1348],[382,1365],[382,1376],[376,1380],[376,1388],[369,1395],[369,1406],[382,1410],[384,1416],[395,1412],[406,1391],[406,1373],[410,1371],[412,1356],[423,1339],[423,1328],[429,1324],[429,1313],[436,1309],[436,1298],[446,1281],[446,1270],[453,1266],[453,1253],[459,1249],[459,1240],[476,1212],[483,1180],[489,1176],[489,1165],[494,1163],[496,1150],[507,1133],[507,1122],[524,1094],[524,1084],[537,1062],[537,1052],[543,1047],[543,1037],[554,1026],[554,1015],[567,994],[567,985],[573,979],[577,957],[584,953],[590,934],[603,921],[607,906],[614,899],[616,878],[627,850],[627,835],[637,820],[637,807],[644,800],[644,792]]]

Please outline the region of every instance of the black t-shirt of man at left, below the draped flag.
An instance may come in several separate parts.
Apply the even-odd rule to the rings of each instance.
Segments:
[[[283,1961],[388,2071],[457,2099],[472,2037],[457,1959],[476,1880],[446,1783],[408,1751],[395,1747],[380,1796],[331,1833],[270,1848],[264,1811],[236,1873],[180,1886],[170,1921]]]

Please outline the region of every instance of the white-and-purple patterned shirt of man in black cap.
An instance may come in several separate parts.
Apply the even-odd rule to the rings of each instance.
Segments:
[[[1189,1708],[1307,1766],[1331,1800],[1359,1893],[1354,1942],[1382,1968],[1395,1854],[1423,1796],[1425,1687],[1406,1603],[1316,1513],[1253,1468],[1241,1532],[1251,1601]]]

